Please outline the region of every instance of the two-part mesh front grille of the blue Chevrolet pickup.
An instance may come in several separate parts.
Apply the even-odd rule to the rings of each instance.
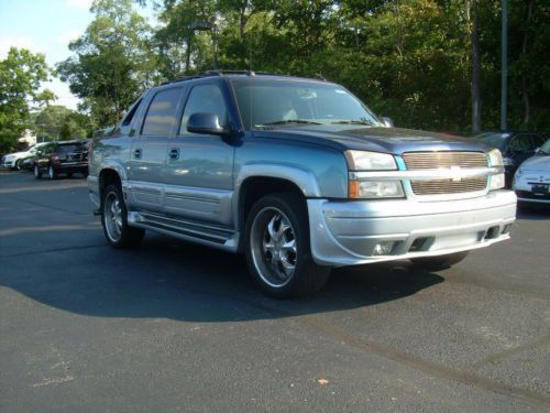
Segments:
[[[487,167],[487,157],[483,152],[408,152],[403,154],[409,171],[439,170],[459,166],[461,169]],[[453,180],[411,181],[415,195],[464,194],[485,191],[486,176]]]

